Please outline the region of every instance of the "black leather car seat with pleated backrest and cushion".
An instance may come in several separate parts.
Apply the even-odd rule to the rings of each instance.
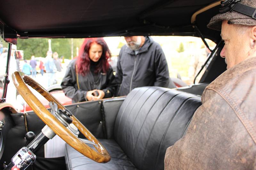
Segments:
[[[136,88],[118,111],[114,140],[99,140],[110,153],[110,162],[96,163],[67,145],[68,169],[164,169],[167,147],[185,134],[200,105],[199,96],[186,92]]]

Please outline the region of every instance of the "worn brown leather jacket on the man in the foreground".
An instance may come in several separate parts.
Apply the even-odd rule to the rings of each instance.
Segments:
[[[216,78],[202,103],[164,169],[256,169],[256,57]]]

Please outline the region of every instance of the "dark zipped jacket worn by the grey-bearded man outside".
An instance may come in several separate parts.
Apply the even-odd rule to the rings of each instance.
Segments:
[[[146,37],[145,43],[135,52],[124,45],[119,53],[116,69],[117,95],[127,95],[142,86],[168,87],[169,70],[161,46]]]

